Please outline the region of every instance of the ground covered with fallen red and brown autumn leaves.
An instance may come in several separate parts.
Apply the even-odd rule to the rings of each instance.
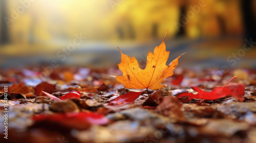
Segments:
[[[0,71],[1,142],[256,141],[255,70],[177,68],[159,90],[124,88],[116,68],[42,71]]]

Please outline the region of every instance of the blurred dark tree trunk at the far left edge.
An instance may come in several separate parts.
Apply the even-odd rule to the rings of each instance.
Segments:
[[[5,43],[8,43],[10,42],[10,37],[9,37],[9,28],[5,22],[5,19],[4,17],[7,16],[7,10],[6,10],[6,7],[7,7],[7,3],[6,3],[7,0],[2,0],[0,1],[0,15],[2,17],[1,19],[1,34],[0,34],[0,44],[5,44]]]

